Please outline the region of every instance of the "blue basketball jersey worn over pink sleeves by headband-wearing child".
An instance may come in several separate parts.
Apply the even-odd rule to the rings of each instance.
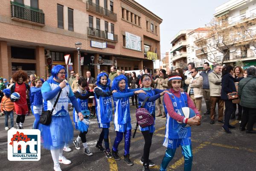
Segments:
[[[172,93],[168,94],[170,99],[172,100],[172,105],[176,113],[180,113],[180,108],[188,107],[187,96],[184,92],[180,93],[180,98],[177,98]],[[182,139],[190,137],[191,128],[183,127],[175,119],[172,119],[168,114],[165,103],[163,103],[163,106],[167,115],[165,137],[169,139]]]

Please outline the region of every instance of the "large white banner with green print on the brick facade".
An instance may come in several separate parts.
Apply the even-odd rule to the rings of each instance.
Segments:
[[[125,47],[128,49],[133,49],[141,51],[141,41],[140,36],[125,32]]]

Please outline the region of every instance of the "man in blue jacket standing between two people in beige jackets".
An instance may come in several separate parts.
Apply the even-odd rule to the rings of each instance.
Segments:
[[[206,109],[207,109],[204,115],[209,115],[211,110],[210,87],[209,87],[209,80],[208,80],[208,74],[211,72],[212,70],[209,67],[209,63],[205,62],[204,71],[200,73],[200,75],[203,77],[203,95],[204,95],[204,101],[206,103]]]

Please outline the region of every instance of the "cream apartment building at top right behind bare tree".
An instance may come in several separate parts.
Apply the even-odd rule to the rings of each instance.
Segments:
[[[214,17],[227,15],[228,26],[232,27],[241,23],[246,24],[246,30],[241,32],[241,37],[236,39],[236,43],[247,42],[243,46],[230,47],[230,52],[224,57],[224,64],[236,64],[242,61],[244,68],[256,66],[256,0],[230,0],[215,8]],[[230,35],[231,36],[231,35]],[[216,52],[218,53],[218,52]],[[218,55],[218,54],[217,54]],[[223,54],[219,54],[220,59]]]

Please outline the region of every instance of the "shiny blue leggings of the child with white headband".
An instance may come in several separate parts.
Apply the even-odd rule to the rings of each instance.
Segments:
[[[191,171],[192,168],[192,160],[193,160],[193,154],[192,154],[192,145],[185,145],[181,146],[182,155],[184,156],[184,171]],[[160,171],[166,171],[166,168],[169,164],[169,162],[172,160],[176,152],[176,148],[167,148],[166,154],[163,157]]]

